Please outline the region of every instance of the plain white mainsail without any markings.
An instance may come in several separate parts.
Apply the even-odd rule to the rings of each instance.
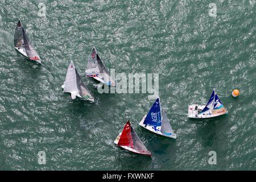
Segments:
[[[73,64],[73,61],[68,66],[68,72],[66,75],[66,79],[64,82],[64,92],[76,92],[78,91],[77,83],[76,83],[76,68]]]

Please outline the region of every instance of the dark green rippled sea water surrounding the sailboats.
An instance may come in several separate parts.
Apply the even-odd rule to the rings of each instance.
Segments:
[[[256,3],[251,1],[42,1],[0,3],[0,169],[255,170]],[[217,17],[209,16],[216,3]],[[15,51],[20,18],[42,59]],[[138,125],[148,94],[99,94],[85,77],[96,46],[116,73],[159,73],[159,94],[177,139]],[[60,86],[73,60],[95,104],[72,101]],[[216,88],[228,115],[187,118]],[[238,88],[240,97],[232,98]],[[131,154],[113,143],[130,119],[152,152]],[[46,152],[46,165],[37,154]],[[208,164],[216,151],[217,164]]]

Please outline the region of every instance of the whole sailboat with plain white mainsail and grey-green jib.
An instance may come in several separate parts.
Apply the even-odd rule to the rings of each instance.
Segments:
[[[76,99],[76,97],[79,97],[81,100],[94,102],[92,94],[90,94],[84,82],[82,82],[82,79],[79,75],[79,72],[77,72],[75,65],[73,64],[73,61],[71,61],[68,66],[65,82],[61,88],[64,89],[63,92],[71,93],[71,98],[73,100]]]

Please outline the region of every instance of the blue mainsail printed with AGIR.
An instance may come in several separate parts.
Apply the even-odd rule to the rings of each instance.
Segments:
[[[162,125],[161,106],[159,98],[156,98],[150,111],[148,111],[147,116],[143,123],[144,125],[151,125],[154,127]]]

